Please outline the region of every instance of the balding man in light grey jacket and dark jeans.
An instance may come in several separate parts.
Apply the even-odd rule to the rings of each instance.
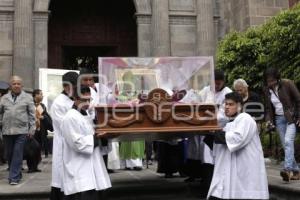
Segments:
[[[35,132],[35,107],[32,96],[22,90],[22,79],[12,76],[11,91],[0,101],[0,127],[9,167],[8,181],[17,185],[22,178],[23,148],[26,136]]]

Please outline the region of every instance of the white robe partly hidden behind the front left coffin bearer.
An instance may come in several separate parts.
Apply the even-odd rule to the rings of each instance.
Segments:
[[[54,135],[53,135],[53,152],[52,152],[52,181],[51,186],[63,190],[62,183],[62,151],[63,142],[61,135],[61,121],[65,114],[73,106],[74,102],[65,94],[58,95],[50,108],[52,117]]]

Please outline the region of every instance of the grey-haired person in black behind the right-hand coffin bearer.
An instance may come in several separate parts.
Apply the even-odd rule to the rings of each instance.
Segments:
[[[233,82],[233,89],[243,98],[243,110],[255,120],[263,119],[263,105],[258,94],[249,91],[248,84],[244,79],[237,79]]]

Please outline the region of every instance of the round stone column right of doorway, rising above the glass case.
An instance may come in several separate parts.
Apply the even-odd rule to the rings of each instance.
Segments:
[[[170,55],[169,0],[152,0],[152,56]]]

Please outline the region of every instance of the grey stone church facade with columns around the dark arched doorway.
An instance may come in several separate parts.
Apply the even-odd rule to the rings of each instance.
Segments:
[[[67,27],[72,26],[72,20],[76,15],[75,18],[69,17],[67,25],[60,21],[64,21],[68,14],[57,18],[56,24],[54,23],[55,9],[59,7],[51,7],[55,1],[65,1],[64,5],[67,7],[77,2],[0,0],[0,80],[7,81],[12,74],[15,74],[23,77],[25,87],[37,87],[38,69],[65,68],[62,62],[64,52],[61,49],[63,47],[72,49],[73,42],[77,46],[89,46],[95,45],[93,41],[97,41],[97,48],[117,49],[113,55],[107,51],[104,56],[214,55],[217,41],[229,31],[243,31],[250,26],[262,24],[296,2],[296,0],[122,0],[131,4],[134,9],[132,16],[134,33],[132,30],[126,32],[129,25],[114,25],[118,21],[118,13],[126,15],[126,12],[121,10],[123,5],[116,14],[101,15],[106,19],[103,20],[103,27],[106,27],[105,30],[110,30],[107,33],[101,33],[104,29],[97,29],[97,24],[102,23],[100,15],[95,18],[89,14],[89,11],[82,14],[78,10],[77,13],[81,13],[80,16],[83,18],[87,18],[85,15],[89,14],[90,18],[95,19],[83,21],[80,30],[76,30],[75,33]],[[105,1],[110,0],[98,0],[100,5],[97,5],[100,7],[102,3],[106,5]],[[69,6],[68,2],[70,2]],[[115,0],[111,8],[118,7],[118,2],[120,0]],[[105,12],[106,8],[103,7],[102,12]],[[126,8],[125,6],[125,11]],[[62,8],[61,10],[61,13],[64,13]],[[51,25],[53,23],[54,25]],[[58,30],[55,27],[59,27]],[[111,33],[116,36],[109,37]],[[133,35],[135,37],[132,37]],[[84,40],[82,40],[83,36]],[[68,37],[74,39],[69,40]],[[130,38],[136,41],[130,43],[132,42]],[[89,42],[84,43],[85,41]],[[135,50],[128,53],[126,48],[132,45]]]

